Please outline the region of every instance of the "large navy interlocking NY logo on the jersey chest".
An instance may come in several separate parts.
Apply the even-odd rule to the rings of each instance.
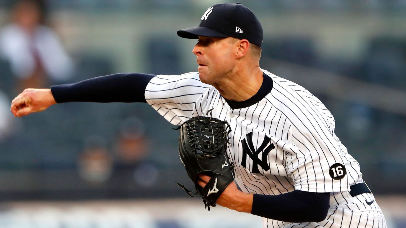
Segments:
[[[261,173],[259,172],[258,165],[263,168],[264,171],[268,171],[269,165],[268,165],[268,154],[269,151],[273,150],[275,148],[274,144],[269,144],[271,141],[268,136],[263,137],[263,142],[261,146],[257,150],[254,148],[253,144],[253,133],[252,131],[248,133],[243,140],[241,140],[242,144],[242,159],[241,159],[241,165],[246,167],[246,159],[247,155],[253,160],[253,167],[251,173]],[[258,158],[259,153],[262,151],[262,156],[261,159]]]

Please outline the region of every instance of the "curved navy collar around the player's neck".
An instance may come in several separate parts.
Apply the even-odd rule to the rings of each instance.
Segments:
[[[245,101],[230,101],[223,97],[231,109],[249,107],[249,106],[261,101],[264,97],[266,97],[266,95],[268,95],[271,92],[272,87],[274,85],[272,78],[269,77],[268,75],[266,75],[265,73],[262,76],[263,76],[263,81],[262,81],[261,88],[259,88],[258,92],[254,96],[252,96],[250,99],[245,100]]]

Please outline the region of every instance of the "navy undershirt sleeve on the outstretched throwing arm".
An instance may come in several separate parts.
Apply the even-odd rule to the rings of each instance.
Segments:
[[[156,75],[117,73],[94,77],[73,84],[51,86],[57,103],[84,102],[144,102],[145,88]]]

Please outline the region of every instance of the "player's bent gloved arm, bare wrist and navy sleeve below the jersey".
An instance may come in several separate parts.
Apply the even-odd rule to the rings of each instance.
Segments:
[[[200,176],[199,185],[204,187],[209,176]],[[251,213],[283,222],[319,222],[326,218],[329,193],[295,190],[276,196],[249,194],[230,183],[216,203],[235,211]]]

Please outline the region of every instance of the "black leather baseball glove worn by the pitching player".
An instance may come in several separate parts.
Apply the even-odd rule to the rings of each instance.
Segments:
[[[227,121],[203,116],[192,117],[179,128],[179,157],[196,189],[189,191],[177,184],[191,197],[199,194],[210,211],[210,206],[216,206],[218,197],[234,181],[234,163],[226,153],[231,128]],[[204,188],[197,183],[199,174],[211,176]]]

